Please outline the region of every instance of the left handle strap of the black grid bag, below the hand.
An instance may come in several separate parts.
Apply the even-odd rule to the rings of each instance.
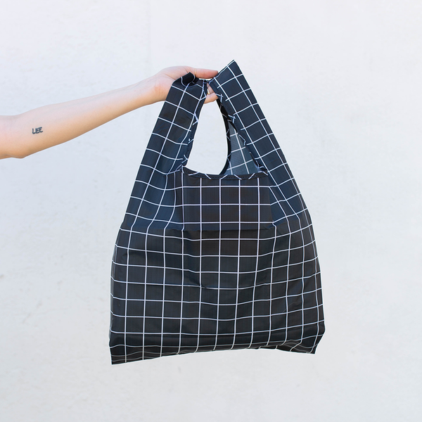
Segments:
[[[139,177],[141,170],[145,179],[153,171],[169,174],[186,164],[206,96],[204,79],[188,73],[174,81],[148,141]]]

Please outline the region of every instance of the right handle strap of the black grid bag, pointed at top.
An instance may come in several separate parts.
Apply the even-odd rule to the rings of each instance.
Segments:
[[[267,170],[274,180],[290,179],[286,158],[237,63],[229,63],[210,80],[210,86],[219,98],[224,117],[236,129],[237,138],[257,166]]]

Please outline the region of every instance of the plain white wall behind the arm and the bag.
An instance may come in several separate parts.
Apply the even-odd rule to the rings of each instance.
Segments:
[[[0,420],[420,421],[421,1],[3,3],[0,115],[236,59],[311,211],[327,331],[314,356],[110,365],[110,261],[150,106],[0,162]],[[189,167],[218,171],[222,120],[203,115]]]

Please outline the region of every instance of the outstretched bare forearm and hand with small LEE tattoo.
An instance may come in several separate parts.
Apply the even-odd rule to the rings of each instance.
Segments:
[[[201,79],[217,75],[217,70],[175,66],[129,87],[35,108],[20,115],[0,116],[0,158],[25,158],[70,141],[136,108],[164,101],[172,83],[188,72]],[[217,99],[210,87],[208,92],[205,103]]]

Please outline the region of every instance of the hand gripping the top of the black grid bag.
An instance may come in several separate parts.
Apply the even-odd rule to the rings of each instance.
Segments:
[[[189,66],[174,66],[173,68],[160,70],[160,72],[153,76],[156,89],[155,101],[164,101],[165,98],[167,98],[167,94],[169,93],[173,82],[189,72],[201,79],[210,79],[215,77],[218,73],[217,70],[196,69],[190,68]],[[207,95],[207,98],[205,98],[205,103],[217,100],[217,95],[214,94],[210,85],[207,85],[207,87],[209,94]]]

